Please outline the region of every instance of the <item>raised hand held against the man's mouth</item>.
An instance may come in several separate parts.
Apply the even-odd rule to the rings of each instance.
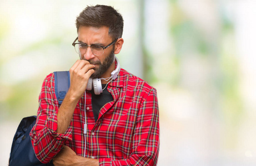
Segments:
[[[86,91],[89,77],[93,74],[95,66],[86,60],[77,60],[69,70],[71,76],[71,91],[72,97],[79,100],[84,91]]]

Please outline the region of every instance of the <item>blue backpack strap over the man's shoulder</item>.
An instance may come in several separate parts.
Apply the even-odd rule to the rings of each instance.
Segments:
[[[69,71],[54,71],[55,94],[61,106],[70,86]]]

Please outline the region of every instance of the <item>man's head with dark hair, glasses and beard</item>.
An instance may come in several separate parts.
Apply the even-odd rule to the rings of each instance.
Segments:
[[[97,5],[84,9],[76,20],[79,46],[83,60],[95,65],[92,78],[109,77],[115,69],[114,55],[123,45],[123,18],[113,7]],[[104,48],[104,49],[103,49]]]

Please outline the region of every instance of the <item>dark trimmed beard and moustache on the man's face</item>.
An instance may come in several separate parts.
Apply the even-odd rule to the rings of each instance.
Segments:
[[[103,62],[97,60],[87,60],[90,64],[99,65],[98,68],[94,68],[94,73],[91,75],[92,79],[96,79],[104,74],[108,70],[108,68],[112,65],[114,61],[114,48],[111,53],[103,60]]]

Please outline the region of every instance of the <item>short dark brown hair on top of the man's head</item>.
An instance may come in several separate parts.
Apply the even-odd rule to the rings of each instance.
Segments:
[[[123,17],[111,6],[87,6],[77,17],[77,31],[80,26],[109,28],[112,38],[121,38],[123,34]]]

